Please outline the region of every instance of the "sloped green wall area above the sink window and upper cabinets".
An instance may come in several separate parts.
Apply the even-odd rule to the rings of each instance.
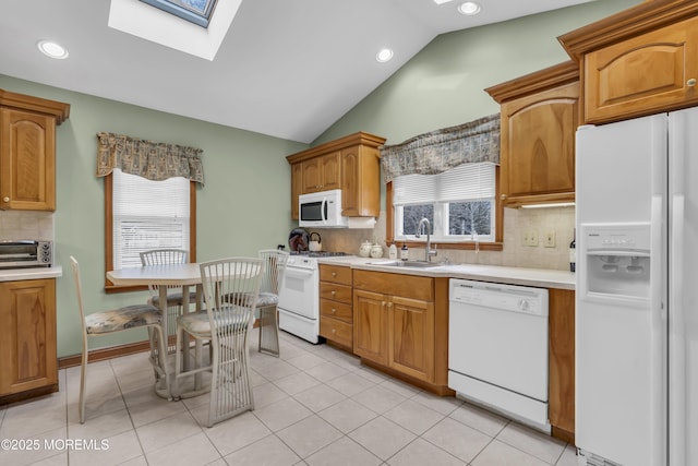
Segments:
[[[313,145],[357,131],[398,144],[496,113],[484,88],[569,60],[557,36],[638,3],[598,0],[437,36]]]

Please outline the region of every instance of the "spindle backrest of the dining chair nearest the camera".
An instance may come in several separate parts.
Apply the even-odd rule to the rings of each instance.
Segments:
[[[230,258],[200,264],[204,302],[217,338],[246,330],[252,323],[260,294],[264,262],[255,258]],[[248,297],[240,299],[240,297]]]

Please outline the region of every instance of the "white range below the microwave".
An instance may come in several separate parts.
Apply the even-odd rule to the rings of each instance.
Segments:
[[[279,291],[279,328],[320,342],[320,270],[317,259],[348,256],[344,252],[291,252]]]

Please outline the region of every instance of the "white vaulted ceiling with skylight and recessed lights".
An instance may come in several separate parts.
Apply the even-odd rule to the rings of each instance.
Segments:
[[[482,13],[465,16],[458,0],[242,0],[213,60],[109,26],[117,3],[152,8],[139,0],[11,1],[0,73],[309,143],[437,35],[587,1],[480,0]],[[171,17],[148,24],[198,27]],[[70,56],[43,56],[40,39]],[[387,63],[375,60],[382,47],[395,51]]]

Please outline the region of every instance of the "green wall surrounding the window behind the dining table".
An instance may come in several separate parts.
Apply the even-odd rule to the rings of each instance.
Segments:
[[[206,183],[196,192],[198,261],[256,255],[288,241],[290,166],[286,156],[308,145],[226,128],[104,98],[44,86],[0,74],[0,88],[71,105],[57,128],[56,261],[58,355],[81,351],[76,296],[69,256],[81,264],[86,311],[145,302],[146,292],[106,295],[104,180],[95,177],[99,131],[203,150]],[[127,332],[91,347],[144,339]]]

